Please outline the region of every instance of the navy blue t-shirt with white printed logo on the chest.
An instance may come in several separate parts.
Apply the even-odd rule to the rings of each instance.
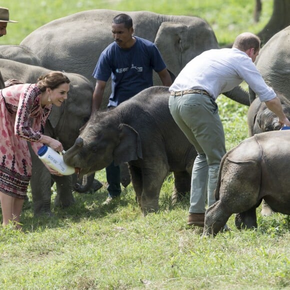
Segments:
[[[154,43],[136,37],[128,49],[114,41],[100,54],[92,76],[107,81],[111,76],[112,92],[108,106],[117,106],[124,100],[153,85],[152,69],[159,72],[166,68]]]

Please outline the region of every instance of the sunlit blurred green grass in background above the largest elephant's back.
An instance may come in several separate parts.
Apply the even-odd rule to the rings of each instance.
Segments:
[[[258,32],[271,16],[273,0],[263,0],[260,21],[253,21],[253,0],[2,0],[10,18],[19,23],[8,24],[1,44],[19,44],[31,31],[48,21],[89,9],[121,11],[148,10],[162,14],[191,15],[204,18],[213,27],[220,45],[231,43],[244,31]],[[75,26],[75,33],[78,27]]]

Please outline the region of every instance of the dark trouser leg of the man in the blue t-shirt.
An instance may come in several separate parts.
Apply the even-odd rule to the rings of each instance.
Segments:
[[[106,168],[106,181],[108,183],[107,191],[109,197],[116,197],[121,194],[121,174],[120,167],[115,166],[114,162],[111,162]]]

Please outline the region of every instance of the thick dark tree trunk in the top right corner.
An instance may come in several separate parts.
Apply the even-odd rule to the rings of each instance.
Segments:
[[[274,0],[273,13],[269,22],[257,34],[265,44],[275,33],[290,25],[290,1]]]

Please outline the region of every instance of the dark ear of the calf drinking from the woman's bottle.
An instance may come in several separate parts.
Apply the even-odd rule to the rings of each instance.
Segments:
[[[141,140],[137,131],[127,124],[120,124],[120,142],[113,151],[115,165],[143,158]]]

